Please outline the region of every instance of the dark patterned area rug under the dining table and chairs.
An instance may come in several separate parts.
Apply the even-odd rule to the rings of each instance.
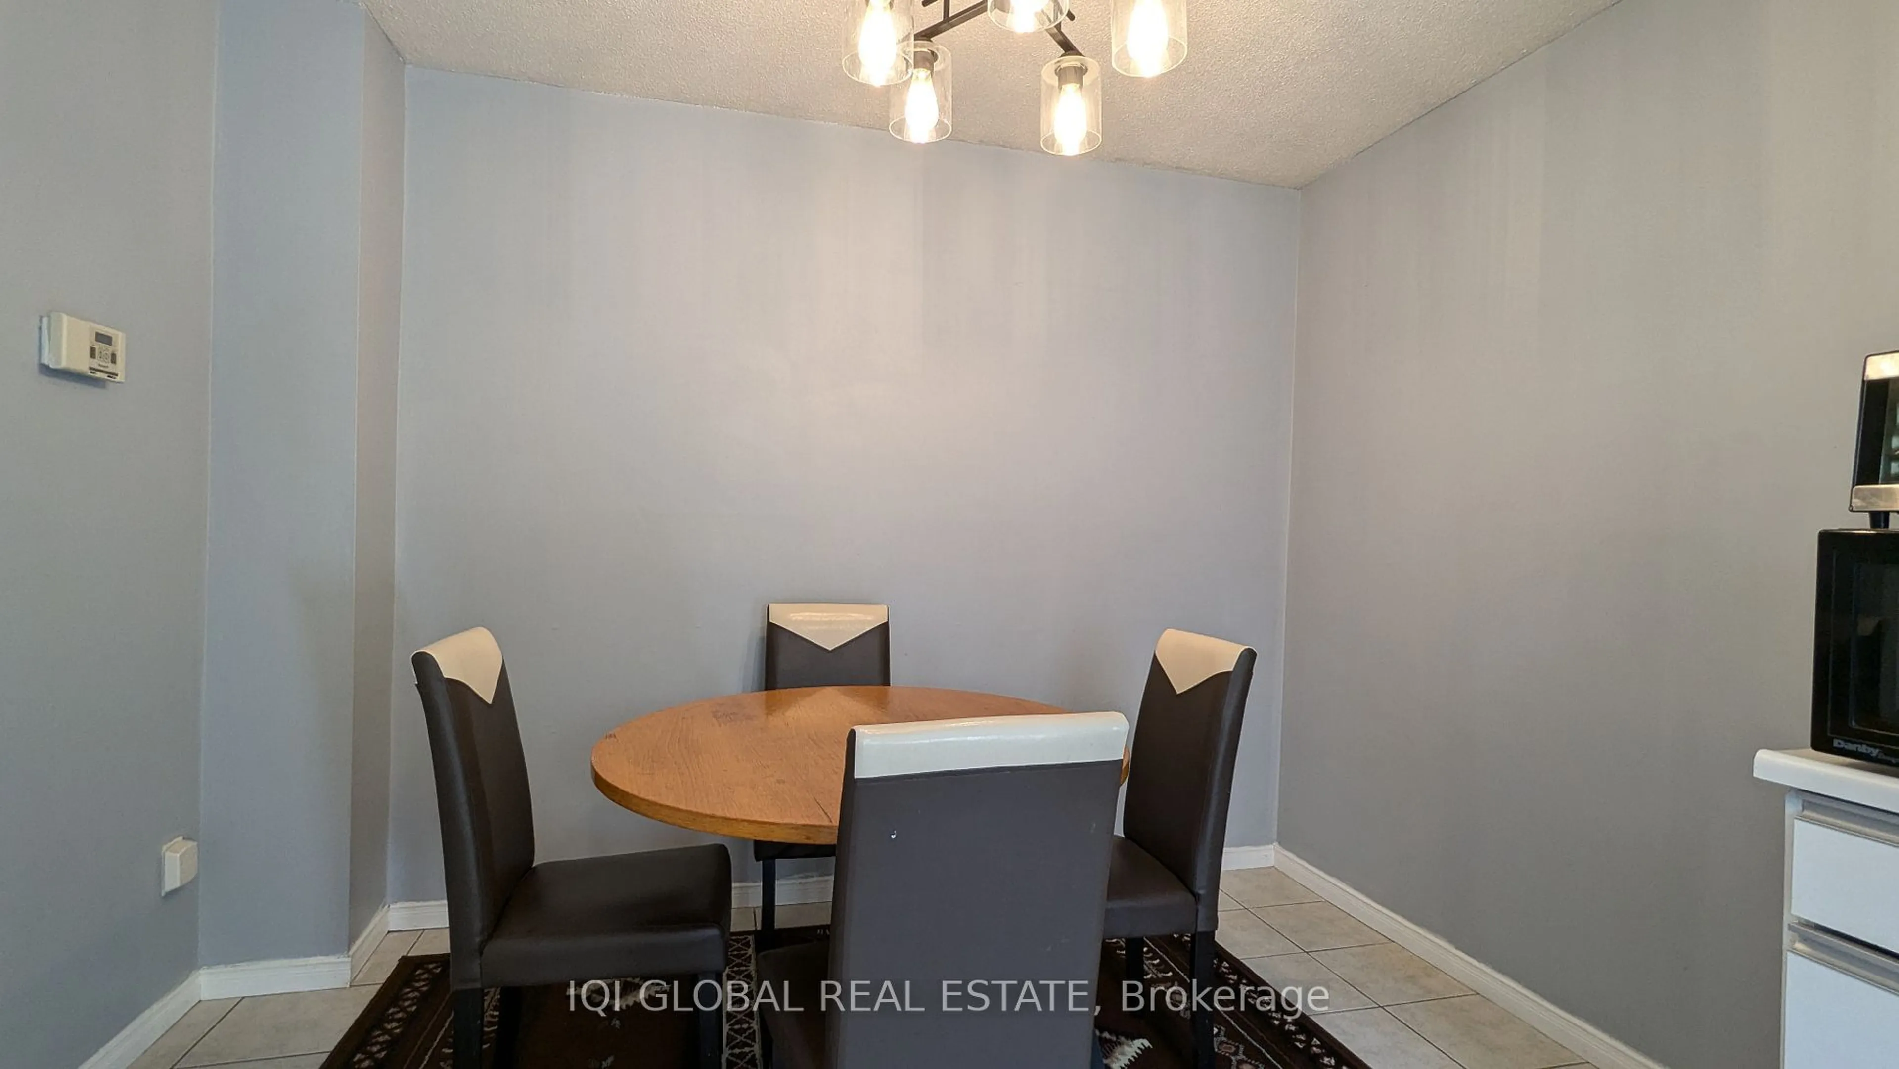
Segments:
[[[822,928],[780,932],[779,938],[815,938]],[[1147,982],[1155,993],[1145,1012],[1122,1010],[1111,995],[1096,1018],[1096,1035],[1107,1069],[1191,1069],[1193,1044],[1185,1008],[1187,940],[1151,940]],[[754,985],[754,942],[733,934],[725,966],[727,984]],[[1269,985],[1225,951],[1215,961],[1217,982],[1234,991]],[[1120,944],[1101,949],[1101,991],[1119,993]],[[636,980],[619,984],[625,1003],[611,1006],[613,985],[589,991],[532,987],[522,999],[518,1065],[532,1069],[678,1069],[691,1065],[693,1014],[644,1008]],[[1251,1004],[1213,1010],[1217,1069],[1369,1069],[1331,1039],[1312,1018],[1284,1004]],[[488,993],[482,1063],[494,1069],[498,999]],[[448,997],[448,957],[404,957],[344,1035],[323,1069],[452,1069],[454,1027]],[[725,1069],[760,1065],[758,1018],[725,1014]]]

